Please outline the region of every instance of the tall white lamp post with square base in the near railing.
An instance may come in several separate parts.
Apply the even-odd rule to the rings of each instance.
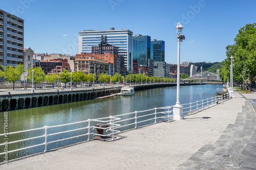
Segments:
[[[178,35],[178,56],[177,56],[177,101],[176,105],[173,106],[174,119],[183,119],[183,106],[180,105],[180,42],[185,39],[182,35],[182,25],[180,22],[177,24],[177,35]]]

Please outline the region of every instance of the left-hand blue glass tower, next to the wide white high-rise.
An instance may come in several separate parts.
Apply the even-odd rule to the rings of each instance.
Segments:
[[[133,36],[133,59],[138,61],[138,66],[147,66],[147,61],[150,59],[150,36]]]

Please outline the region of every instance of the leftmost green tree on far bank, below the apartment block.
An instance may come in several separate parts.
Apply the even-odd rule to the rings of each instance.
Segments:
[[[18,64],[16,67],[13,66],[3,66],[1,65],[3,71],[0,71],[0,77],[3,77],[4,80],[7,80],[10,83],[13,83],[13,90],[14,90],[14,83],[16,80],[20,80],[20,76],[22,75],[24,65]]]

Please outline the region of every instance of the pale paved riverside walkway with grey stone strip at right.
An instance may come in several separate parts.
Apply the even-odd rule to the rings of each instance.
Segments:
[[[185,116],[9,161],[0,169],[255,169],[256,94]]]

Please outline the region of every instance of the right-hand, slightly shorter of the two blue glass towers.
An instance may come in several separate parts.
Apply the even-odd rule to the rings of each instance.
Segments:
[[[151,60],[164,61],[164,41],[151,39]]]

